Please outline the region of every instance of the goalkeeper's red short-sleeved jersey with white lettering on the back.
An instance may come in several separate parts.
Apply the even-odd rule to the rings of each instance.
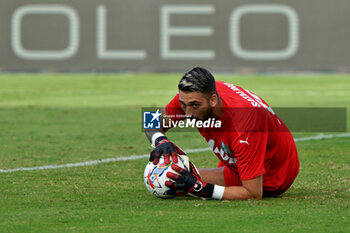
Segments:
[[[241,180],[263,175],[264,191],[285,191],[299,171],[294,139],[281,119],[257,95],[216,81],[223,102],[220,128],[198,128],[215,155]],[[165,107],[167,115],[184,115],[177,94]]]

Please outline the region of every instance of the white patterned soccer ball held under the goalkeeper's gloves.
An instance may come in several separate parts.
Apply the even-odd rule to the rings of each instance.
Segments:
[[[169,190],[169,188],[165,185],[165,181],[171,180],[166,176],[166,173],[171,171],[173,173],[177,173],[171,168],[171,165],[173,164],[173,161],[170,161],[170,164],[164,163],[164,157],[162,156],[159,159],[159,163],[157,165],[154,165],[152,162],[149,162],[146,165],[145,171],[144,171],[144,182],[145,185],[156,197],[159,198],[174,198],[175,195],[166,195],[166,191]],[[179,167],[182,167],[189,170],[189,159],[187,156],[184,155],[178,155],[178,162],[176,163]]]

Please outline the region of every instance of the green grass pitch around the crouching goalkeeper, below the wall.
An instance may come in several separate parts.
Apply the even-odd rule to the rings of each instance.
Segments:
[[[180,77],[0,74],[0,169],[149,153],[141,107],[166,104]],[[272,107],[350,108],[348,75],[216,79],[243,86]],[[207,147],[196,132],[169,132],[169,138],[184,149]],[[294,185],[261,201],[158,199],[143,184],[147,159],[0,173],[0,232],[350,232],[350,138],[297,147]],[[198,167],[218,162],[211,152],[189,156]]]

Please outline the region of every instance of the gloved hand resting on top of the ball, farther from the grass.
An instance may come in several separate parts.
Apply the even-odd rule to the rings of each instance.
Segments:
[[[153,161],[153,164],[159,163],[159,158],[163,155],[164,156],[164,163],[169,164],[170,163],[170,156],[172,158],[172,161],[174,163],[177,163],[177,155],[185,155],[186,153],[181,150],[178,146],[176,146],[174,143],[169,141],[167,137],[159,137],[157,138],[155,142],[156,148],[151,152],[149,161]]]

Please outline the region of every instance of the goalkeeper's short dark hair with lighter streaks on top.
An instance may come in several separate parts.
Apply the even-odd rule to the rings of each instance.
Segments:
[[[184,92],[217,94],[214,76],[202,67],[188,71],[180,80],[178,87]]]

